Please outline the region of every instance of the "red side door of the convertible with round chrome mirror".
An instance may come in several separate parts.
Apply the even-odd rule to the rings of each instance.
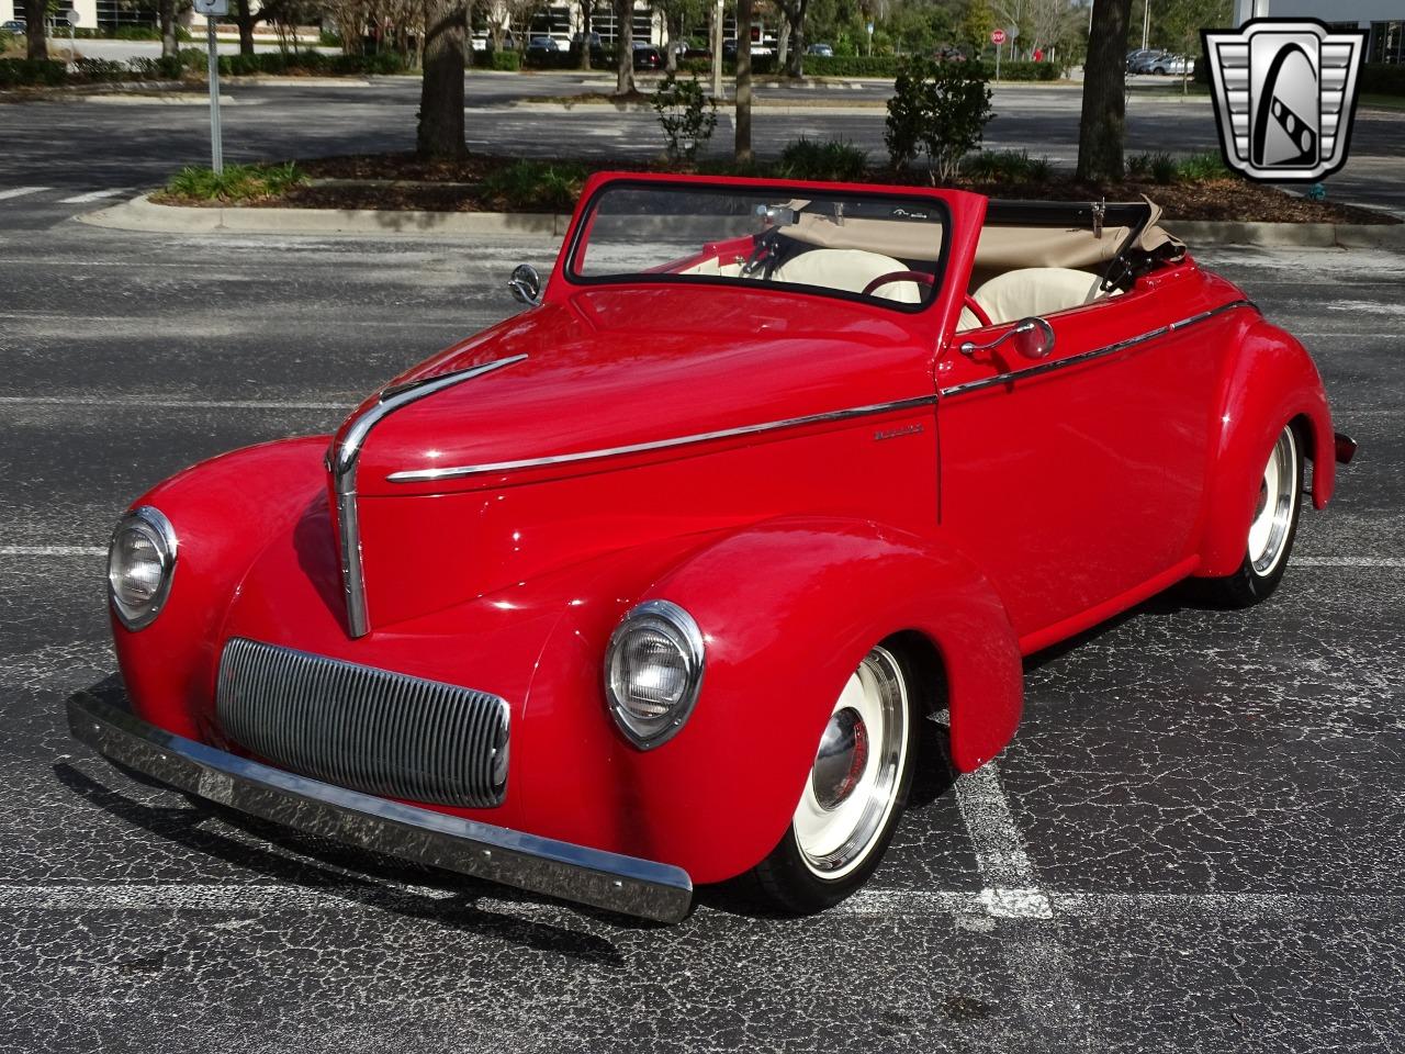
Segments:
[[[1168,330],[1180,298],[1155,287],[1048,315],[1044,358],[960,350],[995,326],[939,360],[941,523],[1026,652],[1193,565],[1218,356],[1205,327]]]

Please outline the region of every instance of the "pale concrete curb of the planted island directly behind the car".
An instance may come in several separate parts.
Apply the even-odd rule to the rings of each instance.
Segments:
[[[496,235],[563,238],[568,215],[530,212],[395,212],[333,208],[195,208],[155,205],[142,195],[86,212],[79,222],[169,235]],[[1168,221],[1194,250],[1204,246],[1297,246],[1405,252],[1405,223],[1232,223]]]

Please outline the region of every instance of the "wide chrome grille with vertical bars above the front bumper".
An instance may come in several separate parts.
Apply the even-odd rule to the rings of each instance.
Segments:
[[[235,637],[215,713],[256,756],[340,787],[472,808],[507,788],[509,708],[485,691]]]

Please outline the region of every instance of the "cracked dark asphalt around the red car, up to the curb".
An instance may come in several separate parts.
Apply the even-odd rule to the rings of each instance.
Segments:
[[[1361,443],[1269,603],[1158,597],[1034,656],[1013,746],[929,769],[843,908],[705,891],[655,928],[139,786],[60,715],[114,668],[132,497],[332,429],[554,247],[132,235],[27,201],[0,219],[0,1048],[1405,1048],[1405,257],[1200,253]]]

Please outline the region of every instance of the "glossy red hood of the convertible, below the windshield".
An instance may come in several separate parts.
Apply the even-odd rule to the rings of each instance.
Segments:
[[[507,482],[514,462],[566,457],[579,467],[570,455],[930,395],[932,325],[927,313],[774,289],[582,291],[396,378],[422,382],[524,356],[381,420],[364,440],[357,492],[481,489]],[[485,465],[506,468],[392,479]]]

